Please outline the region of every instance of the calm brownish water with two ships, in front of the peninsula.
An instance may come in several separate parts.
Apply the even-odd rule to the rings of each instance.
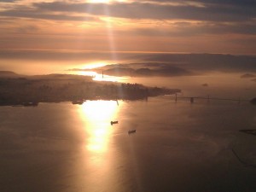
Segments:
[[[247,102],[1,107],[0,191],[255,191],[255,127]]]

